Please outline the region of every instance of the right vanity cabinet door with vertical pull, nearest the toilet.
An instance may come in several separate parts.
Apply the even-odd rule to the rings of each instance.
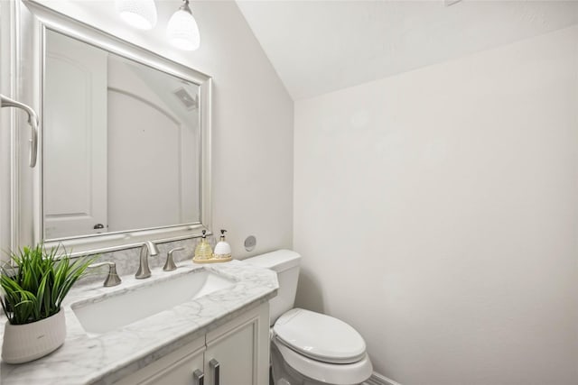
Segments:
[[[207,335],[207,385],[267,385],[268,304],[253,309]]]

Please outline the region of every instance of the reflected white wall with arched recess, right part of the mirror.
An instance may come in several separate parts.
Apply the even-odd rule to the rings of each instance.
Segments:
[[[108,231],[198,222],[199,110],[172,92],[199,97],[199,87],[107,56]]]

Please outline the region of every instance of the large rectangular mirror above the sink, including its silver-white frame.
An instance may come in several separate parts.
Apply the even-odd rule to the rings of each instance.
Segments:
[[[100,252],[210,231],[210,77],[42,5],[19,8],[20,46],[33,47],[19,56],[37,70],[18,78],[33,83],[23,94],[39,90],[28,98],[41,151],[31,185],[16,186],[33,189],[18,243]]]

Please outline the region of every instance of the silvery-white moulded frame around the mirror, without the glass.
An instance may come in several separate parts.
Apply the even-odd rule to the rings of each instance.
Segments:
[[[136,229],[112,234],[90,234],[79,237],[61,238],[44,243],[46,247],[62,245],[73,255],[96,252],[111,252],[136,247],[144,241],[156,243],[172,242],[200,236],[202,230],[211,234],[210,215],[210,127],[212,79],[199,71],[190,69],[172,60],[167,60],[152,51],[145,50],[99,31],[85,23],[70,19],[30,0],[13,3],[12,21],[15,36],[11,47],[14,60],[14,78],[17,83],[16,96],[30,104],[40,115],[39,141],[42,132],[42,87],[44,79],[44,44],[46,30],[60,32],[74,39],[85,41],[98,48],[135,60],[153,69],[197,84],[200,88],[200,222]],[[18,117],[15,124],[26,124]],[[25,130],[17,130],[11,165],[11,248],[16,250],[25,245],[43,241],[42,217],[42,145],[39,164],[35,169],[27,166]],[[22,150],[23,149],[23,150]]]

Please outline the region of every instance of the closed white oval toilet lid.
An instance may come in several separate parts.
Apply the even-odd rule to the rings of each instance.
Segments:
[[[313,360],[351,363],[365,355],[363,337],[332,316],[294,308],[277,319],[273,331],[278,341]]]

